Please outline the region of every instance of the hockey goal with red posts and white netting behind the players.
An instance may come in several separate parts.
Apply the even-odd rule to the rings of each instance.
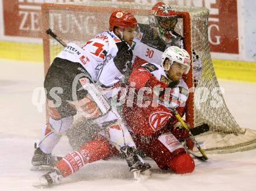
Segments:
[[[74,42],[83,46],[88,39],[108,29],[108,19],[114,10],[127,10],[133,13],[139,23],[148,24],[151,8],[152,5],[103,1],[42,4],[45,73],[63,48],[45,33],[48,28],[66,43]],[[202,147],[207,153],[231,153],[256,147],[256,132],[239,127],[223,99],[209,51],[208,9],[175,5],[173,9],[179,15],[176,30],[184,36],[184,48],[190,55],[194,51],[202,61],[197,83],[193,82],[195,77],[191,70],[185,79],[190,88],[186,120],[193,127],[201,124],[208,124],[210,127],[209,132],[196,139],[203,143]],[[191,68],[198,70],[197,66]]]

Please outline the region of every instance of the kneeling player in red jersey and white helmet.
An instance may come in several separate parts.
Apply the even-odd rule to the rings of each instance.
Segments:
[[[190,70],[190,56],[177,46],[163,52],[161,65],[145,63],[130,75],[130,92],[134,100],[123,107],[123,117],[139,150],[151,157],[159,168],[171,169],[177,174],[193,172],[193,158],[179,140],[188,139],[189,132],[181,127],[170,108],[183,116],[188,87],[182,79]],[[176,85],[172,88],[168,84]],[[165,94],[160,96],[158,88]],[[161,95],[161,93],[160,93]],[[128,104],[129,102],[133,104]],[[189,141],[191,149],[193,143]]]

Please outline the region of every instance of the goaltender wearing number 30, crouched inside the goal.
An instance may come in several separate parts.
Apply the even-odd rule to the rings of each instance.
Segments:
[[[140,37],[133,39],[133,67],[143,63],[161,63],[161,55],[169,46],[183,48],[184,37],[175,31],[177,13],[171,5],[156,3],[149,17],[149,24],[138,24]],[[201,76],[202,62],[193,52],[193,76],[196,83]]]

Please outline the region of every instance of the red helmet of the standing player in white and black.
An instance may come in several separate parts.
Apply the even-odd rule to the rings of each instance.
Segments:
[[[114,27],[136,28],[137,24],[137,20],[131,13],[118,10],[109,18],[109,31],[113,31]]]

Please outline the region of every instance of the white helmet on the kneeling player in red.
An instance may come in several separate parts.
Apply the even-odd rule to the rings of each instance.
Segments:
[[[165,69],[163,67],[163,63],[165,62],[166,58],[168,58],[171,61],[168,66],[168,69]],[[190,60],[189,53],[187,53],[185,49],[179,48],[177,46],[170,46],[165,50],[165,52],[163,52],[162,62],[161,62],[161,66],[163,70],[168,71],[170,69],[170,66],[172,66],[173,62],[177,62],[187,66],[187,70],[185,71],[184,74],[189,73],[191,60]]]

